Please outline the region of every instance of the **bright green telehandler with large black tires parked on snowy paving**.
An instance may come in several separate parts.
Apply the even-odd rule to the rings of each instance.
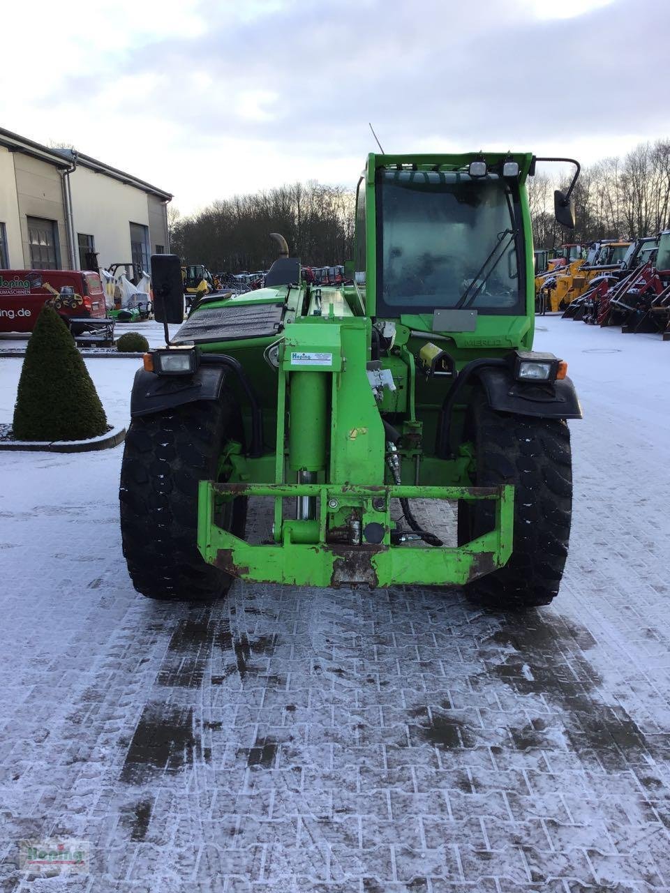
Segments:
[[[180,261],[152,258],[166,345],[137,373],[120,493],[140,593],[214,599],[241,578],[549,604],[570,532],[565,420],[582,411],[565,362],[532,351],[538,160],[370,154],[352,284],[301,281],[275,233],[264,288],[208,296],[172,339]],[[579,164],[546,160],[576,165],[555,195],[574,226]],[[260,542],[249,498],[272,516]]]

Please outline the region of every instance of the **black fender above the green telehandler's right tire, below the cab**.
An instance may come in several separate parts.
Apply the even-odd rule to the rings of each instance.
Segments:
[[[544,419],[582,419],[582,406],[572,380],[548,383],[518,381],[502,367],[474,373],[482,382],[491,409],[499,413],[535,415]]]

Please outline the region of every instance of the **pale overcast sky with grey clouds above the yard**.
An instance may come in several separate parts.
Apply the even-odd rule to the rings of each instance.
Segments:
[[[6,4],[0,125],[64,141],[188,213],[387,152],[590,163],[670,137],[670,0]]]

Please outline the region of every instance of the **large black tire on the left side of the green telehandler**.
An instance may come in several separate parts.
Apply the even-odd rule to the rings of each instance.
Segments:
[[[228,440],[243,441],[239,409],[229,395],[177,406],[130,423],[121,463],[121,540],[133,586],[143,596],[206,601],[222,597],[233,578],[197,549],[197,485],[219,478]],[[247,499],[227,505],[217,522],[243,537]]]

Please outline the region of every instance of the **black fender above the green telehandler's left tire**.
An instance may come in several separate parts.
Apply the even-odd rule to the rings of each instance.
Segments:
[[[218,400],[229,371],[214,364],[200,365],[192,375],[156,375],[138,369],[130,396],[130,418],[198,400]]]

